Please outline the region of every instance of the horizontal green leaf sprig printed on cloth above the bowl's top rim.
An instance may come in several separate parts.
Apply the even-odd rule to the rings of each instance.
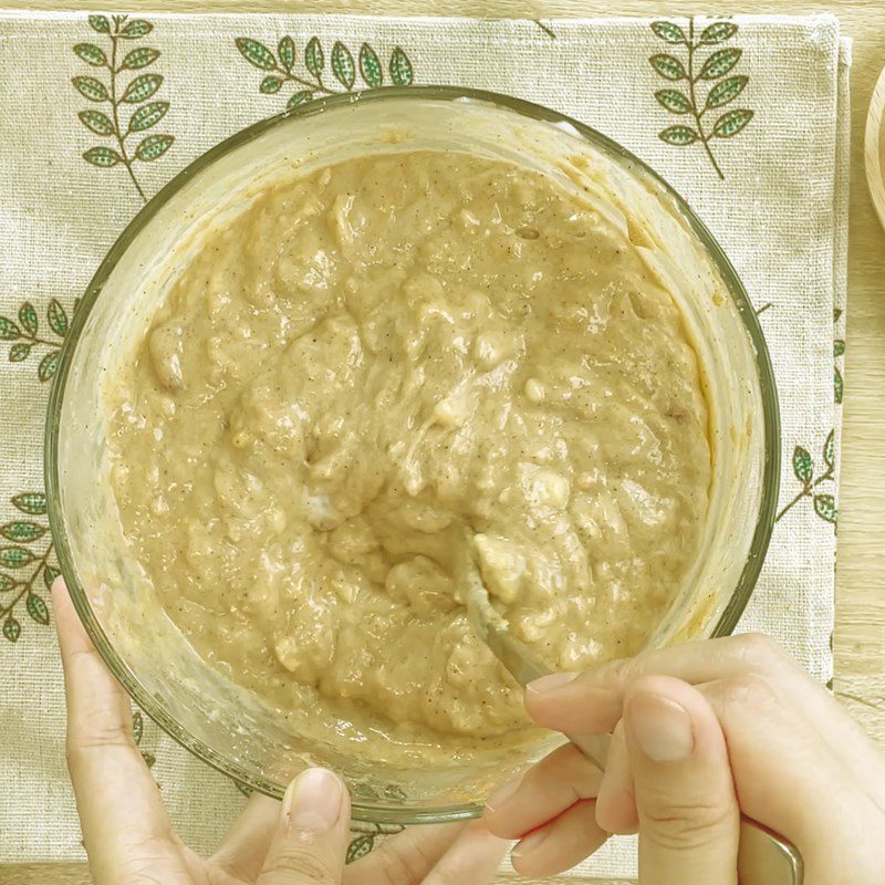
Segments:
[[[264,72],[258,91],[262,95],[287,95],[287,110],[310,102],[317,95],[337,95],[357,88],[377,88],[386,76],[395,86],[410,86],[415,80],[412,60],[402,46],[394,46],[387,61],[387,74],[381,55],[371,43],[353,51],[336,40],[326,52],[319,37],[313,35],[299,53],[299,44],[289,34],[277,43],[277,52],[251,37],[238,37],[233,45],[249,64]],[[299,56],[302,67],[299,67]],[[284,88],[294,86],[293,92]]]

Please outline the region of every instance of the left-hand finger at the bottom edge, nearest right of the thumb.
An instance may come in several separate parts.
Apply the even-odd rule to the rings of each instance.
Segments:
[[[419,885],[464,830],[462,824],[410,826],[344,871],[344,885]]]

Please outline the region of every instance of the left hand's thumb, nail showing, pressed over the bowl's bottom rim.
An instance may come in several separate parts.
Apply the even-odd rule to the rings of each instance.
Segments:
[[[302,771],[285,791],[256,885],[340,885],[350,823],[342,781],[324,768]]]

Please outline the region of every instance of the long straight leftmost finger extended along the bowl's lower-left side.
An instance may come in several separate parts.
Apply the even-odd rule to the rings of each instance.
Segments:
[[[135,746],[128,697],[83,629],[61,579],[52,585],[67,697],[67,768],[96,882],[150,862],[164,882],[189,882],[159,791]]]

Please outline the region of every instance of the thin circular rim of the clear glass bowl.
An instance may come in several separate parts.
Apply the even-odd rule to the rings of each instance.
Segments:
[[[61,348],[59,365],[55,377],[50,389],[49,404],[46,408],[46,420],[44,427],[44,482],[46,489],[48,514],[50,529],[52,531],[55,551],[59,560],[59,568],[64,575],[74,607],[82,621],[86,632],[94,643],[98,654],[104,659],[114,676],[121,681],[129,696],[138,707],[144,710],[160,728],[163,728],[177,743],[194,753],[198,759],[208,763],[220,773],[244,784],[253,790],[266,793],[274,798],[281,798],[282,790],[278,784],[268,779],[256,775],[243,769],[238,762],[217,753],[204,741],[190,735],[177,719],[169,716],[162,702],[139,681],[136,674],[129,668],[126,662],[116,652],[113,644],[101,626],[85,591],[75,579],[73,570],[73,558],[67,543],[64,520],[62,518],[61,506],[59,502],[59,459],[58,444],[60,418],[64,400],[69,369],[72,362],[74,350],[80,341],[81,333],[85,326],[86,317],[92,311],[96,299],[116,267],[118,260],[124,254],[129,244],[135,240],[145,225],[156,215],[156,212],[180,190],[188,181],[199,175],[205,168],[209,167],[217,159],[235,150],[242,145],[254,140],[269,129],[284,124],[292,118],[308,118],[314,114],[321,114],[326,110],[334,110],[339,106],[363,104],[377,101],[397,101],[400,98],[425,98],[430,101],[455,101],[470,100],[479,103],[491,104],[496,107],[516,112],[517,114],[530,117],[535,121],[543,121],[560,125],[572,126],[579,135],[603,152],[616,156],[620,160],[637,167],[643,174],[658,184],[675,200],[679,210],[687,219],[695,236],[704,244],[707,253],[712,259],[718,271],[725,280],[729,294],[738,308],[740,319],[750,336],[752,347],[756,353],[756,365],[758,371],[760,391],[762,396],[762,417],[764,421],[764,465],[762,478],[762,497],[759,507],[756,530],[749,556],[741,571],[737,586],[731,592],[722,614],[719,617],[711,636],[726,636],[732,632],[740,618],[747,603],[752,594],[759,573],[764,562],[766,552],[771,539],[774,525],[774,512],[780,491],[780,460],[781,460],[781,436],[780,436],[780,410],[778,405],[777,386],[774,374],[771,366],[771,358],[768,346],[762,334],[759,320],[752,308],[749,295],[738,277],[737,271],[729,261],[728,257],[719,246],[716,238],[707,229],[706,225],[695,215],[688,202],[653,168],[646,163],[627,150],[621,144],[603,135],[598,131],[584,123],[581,123],[566,114],[553,111],[533,102],[516,98],[502,93],[473,90],[461,86],[445,85],[416,85],[416,86],[386,86],[363,92],[343,93],[339,95],[314,98],[311,102],[288,108],[280,114],[261,119],[247,126],[219,142],[214,147],[200,154],[191,160],[184,169],[177,173],[157,194],[152,197],[144,207],[126,225],[114,244],[107,251],[98,269],[95,271],[86,290],[81,299],[76,313],[74,314],[64,344]],[[369,823],[382,824],[416,824],[416,823],[440,823],[447,821],[459,821],[477,816],[481,809],[472,803],[445,805],[441,808],[418,808],[398,809],[388,805],[377,805],[372,802],[354,798],[353,801],[354,820]]]

